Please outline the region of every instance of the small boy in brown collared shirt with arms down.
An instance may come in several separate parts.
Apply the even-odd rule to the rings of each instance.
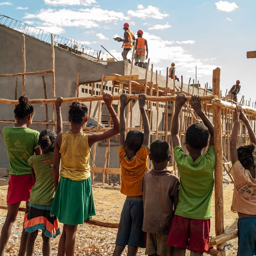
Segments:
[[[165,140],[152,142],[149,159],[154,168],[146,172],[142,181],[142,230],[147,232],[145,254],[172,256],[173,247],[166,245],[166,241],[178,203],[180,180],[167,170],[171,159],[170,144]]]

